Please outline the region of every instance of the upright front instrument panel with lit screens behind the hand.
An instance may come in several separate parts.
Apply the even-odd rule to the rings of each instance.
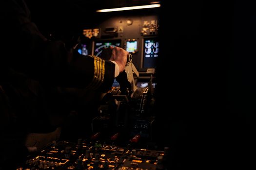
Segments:
[[[83,30],[80,54],[100,56],[102,50],[117,46],[133,54],[138,71],[157,68],[160,56],[157,15],[110,17],[93,28]]]

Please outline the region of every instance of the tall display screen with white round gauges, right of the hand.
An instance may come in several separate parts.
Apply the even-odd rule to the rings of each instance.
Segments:
[[[156,68],[159,57],[158,38],[144,38],[143,68]]]

